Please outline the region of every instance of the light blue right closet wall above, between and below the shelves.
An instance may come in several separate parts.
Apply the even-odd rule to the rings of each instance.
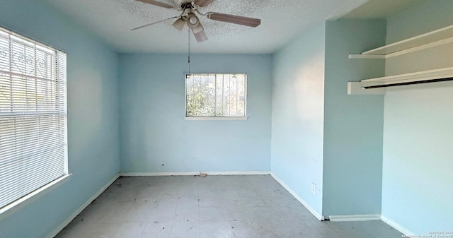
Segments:
[[[387,42],[453,25],[453,1],[427,1],[388,20]],[[386,73],[453,66],[453,44],[394,57]],[[408,234],[453,228],[453,83],[388,88],[382,216]],[[446,234],[451,235],[451,234]]]

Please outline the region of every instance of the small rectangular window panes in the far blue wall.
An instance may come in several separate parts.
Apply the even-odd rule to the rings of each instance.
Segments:
[[[185,78],[185,116],[246,117],[247,76],[190,74]]]

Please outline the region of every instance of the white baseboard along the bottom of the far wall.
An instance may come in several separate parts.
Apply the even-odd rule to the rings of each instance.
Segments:
[[[207,175],[269,175],[268,171],[236,171],[236,172],[144,172],[144,173],[120,173],[120,176],[137,177],[137,176],[193,176],[201,173]]]

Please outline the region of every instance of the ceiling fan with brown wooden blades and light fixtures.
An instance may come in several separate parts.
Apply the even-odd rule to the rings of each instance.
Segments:
[[[174,6],[163,3],[161,1],[156,1],[156,0],[135,0],[135,1],[141,1],[142,3],[145,3],[145,4],[151,4],[151,5],[160,6],[163,8],[176,9],[176,10],[180,11],[181,13],[179,16],[174,16],[172,18],[166,18],[164,20],[159,20],[154,23],[142,25],[142,26],[140,26],[138,28],[134,28],[132,30],[138,30],[140,28],[145,28],[149,25],[161,23],[165,20],[178,18],[175,21],[175,23],[173,23],[173,27],[178,30],[183,30],[184,25],[188,25],[188,27],[192,30],[193,35],[195,35],[195,39],[197,39],[197,42],[203,42],[203,41],[207,40],[205,28],[203,28],[203,26],[201,25],[200,19],[198,18],[197,14],[201,15],[201,16],[206,16],[207,18],[209,18],[211,20],[219,20],[219,21],[223,21],[226,23],[246,25],[246,26],[250,26],[253,28],[256,28],[258,25],[261,24],[261,20],[257,19],[257,18],[248,18],[248,17],[244,17],[244,16],[234,16],[234,15],[230,15],[230,14],[214,13],[214,12],[201,13],[199,11],[200,8],[208,6],[214,0],[173,0],[175,2]]]

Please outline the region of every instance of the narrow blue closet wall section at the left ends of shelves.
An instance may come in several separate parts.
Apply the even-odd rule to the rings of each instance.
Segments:
[[[381,212],[382,95],[347,95],[348,81],[383,76],[384,61],[348,59],[385,44],[384,20],[326,24],[323,215]]]

